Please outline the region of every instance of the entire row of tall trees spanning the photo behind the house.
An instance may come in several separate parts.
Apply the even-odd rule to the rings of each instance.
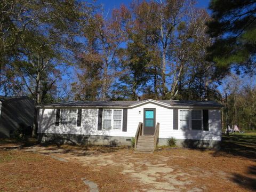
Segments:
[[[132,1],[110,12],[94,1],[0,1],[1,94],[36,105],[222,101],[218,86],[230,71],[255,74],[255,6],[211,1],[210,15],[190,0]]]

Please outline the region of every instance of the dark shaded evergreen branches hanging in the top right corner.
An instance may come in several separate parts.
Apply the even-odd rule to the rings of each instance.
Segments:
[[[219,68],[217,75],[225,75],[230,67],[237,72],[253,72],[256,67],[256,2],[211,1],[212,20],[208,33],[215,38],[209,49],[209,59]]]

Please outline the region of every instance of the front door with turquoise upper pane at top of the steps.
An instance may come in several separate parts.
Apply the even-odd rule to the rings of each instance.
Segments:
[[[156,109],[144,108],[143,134],[154,135],[156,126]]]

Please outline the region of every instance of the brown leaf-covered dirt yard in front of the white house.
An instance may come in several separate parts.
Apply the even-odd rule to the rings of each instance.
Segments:
[[[253,152],[0,143],[0,191],[89,191],[81,178],[99,191],[254,191]]]

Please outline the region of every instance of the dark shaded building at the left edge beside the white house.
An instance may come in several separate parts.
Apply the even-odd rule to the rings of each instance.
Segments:
[[[35,103],[29,97],[0,96],[0,138],[9,138],[18,128],[34,124]]]

